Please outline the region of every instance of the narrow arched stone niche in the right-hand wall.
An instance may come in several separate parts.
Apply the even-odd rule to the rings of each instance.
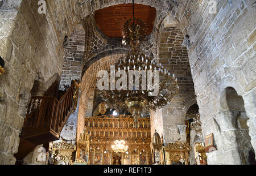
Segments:
[[[236,89],[226,87],[221,92],[220,112],[215,119],[220,126],[222,141],[218,146],[222,152],[233,150],[230,157],[237,164],[250,164],[249,152],[254,151],[251,142],[250,128],[247,126],[249,118],[246,116],[244,101]],[[229,141],[225,141],[229,140]]]

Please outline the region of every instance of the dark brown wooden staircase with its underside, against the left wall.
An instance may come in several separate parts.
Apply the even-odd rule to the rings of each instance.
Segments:
[[[76,109],[78,93],[79,84],[72,81],[59,100],[53,96],[54,93],[46,93],[48,96],[43,97],[32,96],[20,136],[19,149],[14,154],[17,160],[22,160],[36,146],[60,138],[60,132],[69,115]]]

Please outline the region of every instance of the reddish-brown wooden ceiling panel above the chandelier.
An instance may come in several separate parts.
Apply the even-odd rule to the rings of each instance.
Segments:
[[[155,23],[156,10],[154,7],[134,5],[135,18],[143,20],[147,24],[150,35]],[[98,28],[108,37],[122,37],[122,28],[126,20],[133,18],[133,4],[123,4],[102,8],[95,12],[95,20]]]

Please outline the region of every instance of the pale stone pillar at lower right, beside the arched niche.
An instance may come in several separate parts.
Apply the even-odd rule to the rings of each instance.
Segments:
[[[233,114],[220,111],[214,118],[208,119],[207,128],[203,128],[204,136],[213,132],[214,145],[217,151],[207,154],[209,165],[241,165],[241,157],[237,144],[237,129],[234,127]]]

